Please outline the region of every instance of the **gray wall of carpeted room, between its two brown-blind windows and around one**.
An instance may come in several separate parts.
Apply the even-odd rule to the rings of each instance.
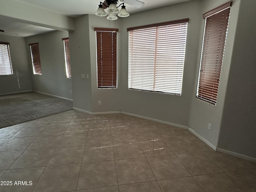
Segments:
[[[32,89],[34,91],[72,99],[72,80],[66,78],[64,44],[62,38],[68,32],[54,31],[26,38],[26,50],[29,58]],[[42,75],[34,75],[28,44],[39,43]]]

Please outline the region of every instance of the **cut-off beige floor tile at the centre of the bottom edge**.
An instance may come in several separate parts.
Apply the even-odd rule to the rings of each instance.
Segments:
[[[161,192],[156,181],[136,183],[129,185],[120,185],[119,192]]]

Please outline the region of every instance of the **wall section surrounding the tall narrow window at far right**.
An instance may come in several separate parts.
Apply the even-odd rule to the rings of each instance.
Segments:
[[[200,33],[199,46],[198,46],[199,50],[197,55],[197,62],[196,62],[196,65],[194,66],[196,70],[193,74],[193,76],[195,77],[192,85],[193,96],[190,98],[191,110],[190,110],[190,118],[189,118],[189,127],[192,128],[198,134],[200,134],[203,138],[205,138],[208,142],[213,144],[215,147],[218,144],[218,136],[220,132],[222,110],[223,110],[224,98],[226,94],[226,86],[227,86],[227,80],[228,80],[228,75],[230,70],[232,50],[234,46],[235,29],[236,29],[236,22],[238,17],[240,0],[234,0],[232,7],[230,9],[228,35],[226,39],[226,46],[225,46],[225,52],[223,57],[223,64],[222,64],[222,71],[220,76],[220,85],[218,90],[218,98],[217,98],[216,106],[196,98],[196,88],[198,83],[200,53],[202,49],[202,39],[203,39],[203,30],[204,30],[204,20],[202,19],[202,14],[226,2],[227,2],[226,0],[202,1],[202,10],[200,10],[199,12],[201,17],[200,20],[202,21],[200,30],[198,31]],[[211,130],[208,130],[208,123],[212,124]]]

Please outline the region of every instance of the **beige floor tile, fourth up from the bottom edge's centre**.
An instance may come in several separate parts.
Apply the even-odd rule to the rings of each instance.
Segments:
[[[136,135],[133,131],[112,132],[113,143],[137,142]]]

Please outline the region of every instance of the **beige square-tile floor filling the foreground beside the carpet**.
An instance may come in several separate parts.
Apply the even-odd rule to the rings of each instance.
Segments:
[[[70,110],[0,129],[0,182],[1,192],[255,192],[256,163],[188,130]]]

